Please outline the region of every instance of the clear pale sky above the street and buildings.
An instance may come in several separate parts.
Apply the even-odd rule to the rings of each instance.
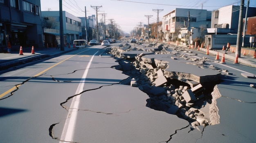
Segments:
[[[96,10],[91,6],[99,6],[98,13],[106,13],[106,24],[113,19],[122,31],[129,33],[139,22],[148,24],[145,15],[153,15],[149,23],[156,22],[157,13],[153,9],[163,9],[159,13],[159,20],[162,16],[175,8],[186,9],[207,9],[209,11],[219,9],[227,5],[240,5],[240,0],[62,0],[63,11],[67,11],[77,17],[96,15]],[[245,0],[247,4],[247,0]],[[250,0],[250,7],[256,7],[256,0]],[[101,7],[102,6],[102,7]],[[41,11],[58,11],[59,0],[41,0]],[[98,22],[102,15],[98,15]]]

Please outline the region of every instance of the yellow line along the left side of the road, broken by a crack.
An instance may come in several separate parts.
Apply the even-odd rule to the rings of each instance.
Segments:
[[[90,49],[88,49],[88,50],[90,50]],[[85,51],[88,51],[88,50],[85,50]],[[85,51],[82,51],[82,52],[80,52],[80,53],[83,53],[83,52],[85,52]],[[78,54],[80,54],[80,53],[77,53],[76,55],[78,55]],[[66,60],[68,60],[68,59],[70,59],[70,58],[72,58],[72,57],[74,57],[74,56],[76,56],[76,55],[72,55],[71,57],[68,57],[67,59],[64,59],[63,61],[58,62],[57,64],[54,64],[53,66],[50,66],[49,68],[46,68],[45,70],[43,70],[43,71],[41,71],[40,73],[34,75],[33,77],[37,77],[37,76],[39,76],[39,75],[42,75],[42,74],[45,73],[47,70],[53,68],[54,66],[57,66],[58,64],[61,64],[62,62],[66,61]],[[26,80],[29,80],[29,79],[31,79],[31,78],[33,78],[33,77],[29,77],[29,78],[26,79]],[[13,90],[17,89],[19,86],[21,86],[21,84],[18,84],[17,86],[13,86],[11,89],[5,91],[4,93],[2,93],[2,94],[0,95],[0,98],[4,97],[4,96],[7,95],[8,93],[11,93]]]

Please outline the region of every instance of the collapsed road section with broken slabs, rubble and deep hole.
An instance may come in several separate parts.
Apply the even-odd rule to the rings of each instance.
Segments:
[[[216,99],[220,95],[214,90],[221,73],[204,65],[207,57],[199,59],[191,51],[154,42],[119,44],[108,51],[119,62],[115,68],[130,76],[130,86],[150,97],[149,108],[176,114],[193,128],[219,123]]]

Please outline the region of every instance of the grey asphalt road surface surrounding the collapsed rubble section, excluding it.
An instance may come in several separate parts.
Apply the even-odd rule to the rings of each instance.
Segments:
[[[118,43],[117,43],[118,44]],[[176,115],[146,106],[148,95],[121,84],[128,78],[103,46],[90,46],[0,76],[3,143],[234,143],[256,141],[255,68],[214,62],[222,69],[220,124],[192,129]],[[202,67],[203,68],[203,67]],[[228,70],[227,72],[224,72]],[[230,89],[232,87],[232,89]]]

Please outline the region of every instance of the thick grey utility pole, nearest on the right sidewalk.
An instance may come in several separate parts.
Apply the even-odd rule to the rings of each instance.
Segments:
[[[241,0],[239,19],[238,19],[237,39],[236,39],[236,55],[238,55],[238,57],[241,57],[241,46],[242,46],[242,42],[241,41],[242,41],[244,4],[245,4],[245,0]]]

